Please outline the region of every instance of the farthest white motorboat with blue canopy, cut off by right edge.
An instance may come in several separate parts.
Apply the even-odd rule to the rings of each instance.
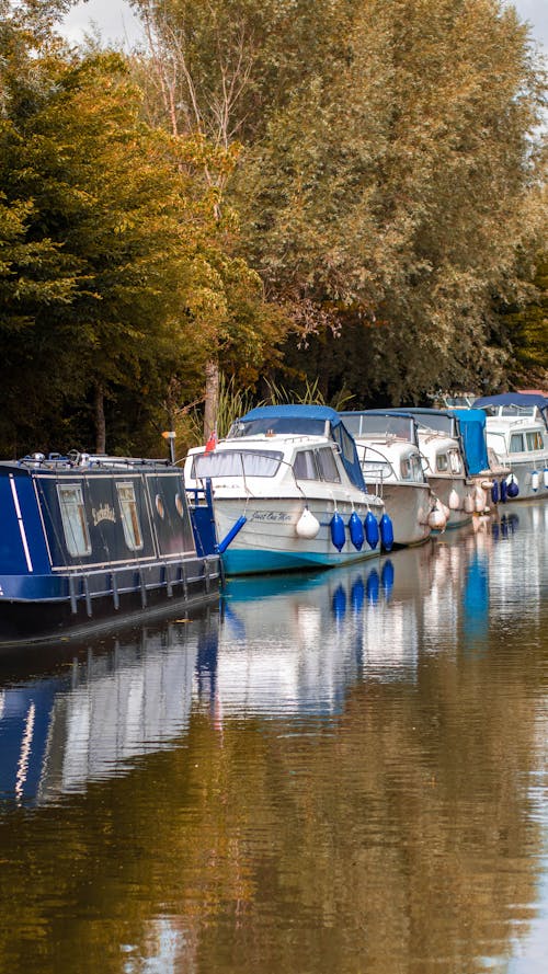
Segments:
[[[548,497],[548,398],[506,392],[477,399],[486,413],[487,442],[510,469],[502,500]]]

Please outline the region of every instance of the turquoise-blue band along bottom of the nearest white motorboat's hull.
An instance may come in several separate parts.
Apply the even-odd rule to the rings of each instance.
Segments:
[[[222,564],[227,575],[250,575],[264,572],[292,572],[304,569],[329,569],[336,565],[352,564],[367,558],[378,558],[378,549],[355,552],[334,551],[326,554],[313,551],[269,551],[266,549],[230,550],[222,554]]]

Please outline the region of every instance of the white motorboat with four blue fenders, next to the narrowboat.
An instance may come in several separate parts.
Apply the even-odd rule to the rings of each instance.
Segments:
[[[214,449],[191,449],[184,475],[198,534],[203,499],[213,500],[215,547],[228,575],[347,564],[393,542],[354,439],[327,406],[252,410]],[[210,545],[203,541],[205,550]]]

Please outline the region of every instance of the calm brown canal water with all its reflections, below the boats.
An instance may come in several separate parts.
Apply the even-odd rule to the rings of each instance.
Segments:
[[[548,970],[548,504],[0,657],[0,971]]]

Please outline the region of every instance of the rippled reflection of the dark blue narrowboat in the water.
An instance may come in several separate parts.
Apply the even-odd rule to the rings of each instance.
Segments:
[[[69,669],[52,650],[54,673],[41,678],[23,679],[21,655],[12,657],[12,677],[0,686],[0,798],[55,801],[172,746],[187,725],[195,673],[217,626],[208,608],[193,621],[134,629],[110,649],[89,646]],[[44,652],[42,667],[46,658]]]

